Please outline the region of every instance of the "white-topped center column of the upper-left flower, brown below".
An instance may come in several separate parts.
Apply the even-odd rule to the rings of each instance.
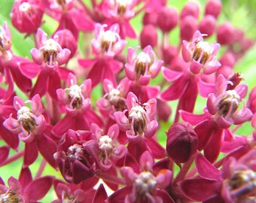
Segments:
[[[48,65],[55,65],[56,64],[56,57],[61,50],[60,45],[54,41],[52,38],[48,39],[44,42],[44,46],[40,48],[44,62]]]

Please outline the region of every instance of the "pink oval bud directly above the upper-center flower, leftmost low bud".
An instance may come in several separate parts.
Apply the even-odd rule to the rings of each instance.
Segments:
[[[144,49],[148,45],[151,45],[151,47],[156,46],[157,45],[157,29],[151,24],[144,26],[144,28],[142,29],[142,33],[140,35],[140,41],[141,41],[142,49]]]

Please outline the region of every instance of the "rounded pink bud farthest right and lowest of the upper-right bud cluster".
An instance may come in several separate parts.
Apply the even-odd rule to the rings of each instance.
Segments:
[[[235,30],[231,23],[223,23],[218,28],[217,41],[220,44],[232,44],[234,41]]]

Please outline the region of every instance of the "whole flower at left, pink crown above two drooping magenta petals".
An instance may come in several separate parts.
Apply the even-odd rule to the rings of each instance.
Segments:
[[[47,132],[46,121],[42,115],[44,109],[41,98],[35,95],[32,100],[23,102],[22,98],[14,97],[14,108],[17,110],[17,119],[10,117],[3,125],[14,134],[18,134],[21,141],[26,143],[23,164],[31,165],[38,157],[38,150],[44,159],[56,168],[53,153],[56,152],[56,143]]]

